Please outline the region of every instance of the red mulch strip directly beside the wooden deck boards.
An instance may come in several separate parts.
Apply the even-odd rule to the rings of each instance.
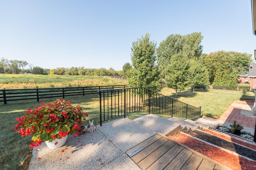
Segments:
[[[256,169],[256,161],[250,161],[245,158],[236,156],[212,145],[198,141],[188,135],[178,133],[177,135],[169,136],[171,139],[186,145],[187,147],[204,154],[205,156],[223,164],[234,170],[253,170]]]

